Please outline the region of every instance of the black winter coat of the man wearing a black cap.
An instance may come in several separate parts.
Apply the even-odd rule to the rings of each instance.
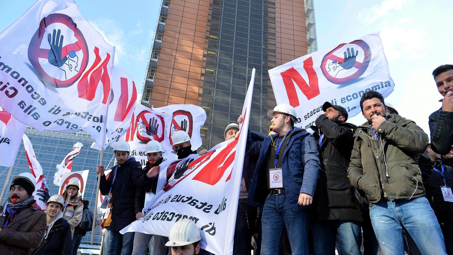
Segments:
[[[324,134],[324,138],[319,148],[323,171],[319,173],[313,197],[314,208],[318,209],[314,217],[323,220],[361,221],[359,202],[347,174],[357,126],[351,123],[337,124],[325,115],[317,118],[315,123],[316,126],[311,128],[318,146],[320,134]]]

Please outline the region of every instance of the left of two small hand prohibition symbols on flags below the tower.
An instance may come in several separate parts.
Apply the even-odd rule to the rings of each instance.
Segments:
[[[154,135],[148,134],[148,133],[150,133],[149,126],[151,125],[151,123],[149,123],[149,120],[153,119],[153,118],[159,125],[156,132],[159,132],[159,129],[160,129],[161,130],[160,135],[159,134],[154,134]],[[158,120],[160,120],[160,123],[158,122]],[[145,128],[140,128],[142,130],[139,130],[137,128],[137,138],[139,138],[140,141],[142,141],[142,142],[149,142],[151,140],[156,140],[157,142],[164,141],[164,133],[165,133],[164,132],[164,129],[165,129],[164,117],[144,110],[144,111],[141,111],[137,115],[137,122],[140,123],[139,125],[145,126]],[[143,130],[143,129],[145,129],[145,130]]]

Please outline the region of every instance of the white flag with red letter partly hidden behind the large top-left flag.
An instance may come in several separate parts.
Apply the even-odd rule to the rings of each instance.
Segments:
[[[130,127],[130,119],[134,113],[137,90],[134,79],[124,69],[115,66],[112,71],[112,95],[107,116],[106,144],[118,142],[120,137]],[[100,150],[101,147],[93,142],[92,148]]]

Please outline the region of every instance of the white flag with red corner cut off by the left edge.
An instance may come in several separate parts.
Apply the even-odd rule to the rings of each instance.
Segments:
[[[25,125],[0,107],[0,166],[14,165]]]

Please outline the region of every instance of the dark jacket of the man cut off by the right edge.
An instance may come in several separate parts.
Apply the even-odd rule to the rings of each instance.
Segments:
[[[447,155],[453,145],[453,112],[442,108],[429,116],[431,149],[440,155]]]

